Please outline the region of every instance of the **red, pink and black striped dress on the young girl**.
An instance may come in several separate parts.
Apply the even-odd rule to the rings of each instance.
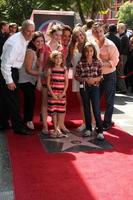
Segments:
[[[51,78],[50,85],[52,91],[55,95],[62,94],[65,87],[65,68],[52,68],[51,69]],[[66,96],[63,96],[62,99],[54,99],[50,92],[48,92],[48,113],[50,115],[54,113],[65,113],[66,111]]]

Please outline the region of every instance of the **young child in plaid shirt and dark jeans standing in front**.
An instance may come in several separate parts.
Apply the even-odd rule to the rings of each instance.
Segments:
[[[96,120],[97,139],[103,140],[103,127],[100,114],[99,83],[102,79],[102,64],[97,59],[97,52],[92,43],[87,42],[83,49],[81,61],[76,66],[75,79],[80,82],[80,94],[84,106],[86,131],[84,137],[91,136],[91,110]]]

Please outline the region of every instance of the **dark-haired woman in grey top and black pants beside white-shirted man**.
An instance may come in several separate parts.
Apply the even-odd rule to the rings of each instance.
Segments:
[[[36,82],[38,77],[44,74],[37,66],[39,51],[42,49],[44,42],[43,33],[35,32],[28,44],[23,67],[19,71],[20,88],[24,94],[24,122],[30,129],[34,129],[33,116]]]

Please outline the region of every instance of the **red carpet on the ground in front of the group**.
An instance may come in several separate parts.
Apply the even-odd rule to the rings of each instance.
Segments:
[[[111,150],[48,154],[37,133],[7,138],[15,200],[133,200],[133,137],[117,127]]]

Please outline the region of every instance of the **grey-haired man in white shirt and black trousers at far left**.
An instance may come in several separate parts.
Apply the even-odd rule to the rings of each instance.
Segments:
[[[22,67],[28,41],[32,39],[35,30],[33,21],[26,20],[22,31],[12,35],[3,46],[1,56],[0,94],[2,98],[2,126],[8,126],[9,115],[15,133],[30,134],[19,115],[18,70]]]

